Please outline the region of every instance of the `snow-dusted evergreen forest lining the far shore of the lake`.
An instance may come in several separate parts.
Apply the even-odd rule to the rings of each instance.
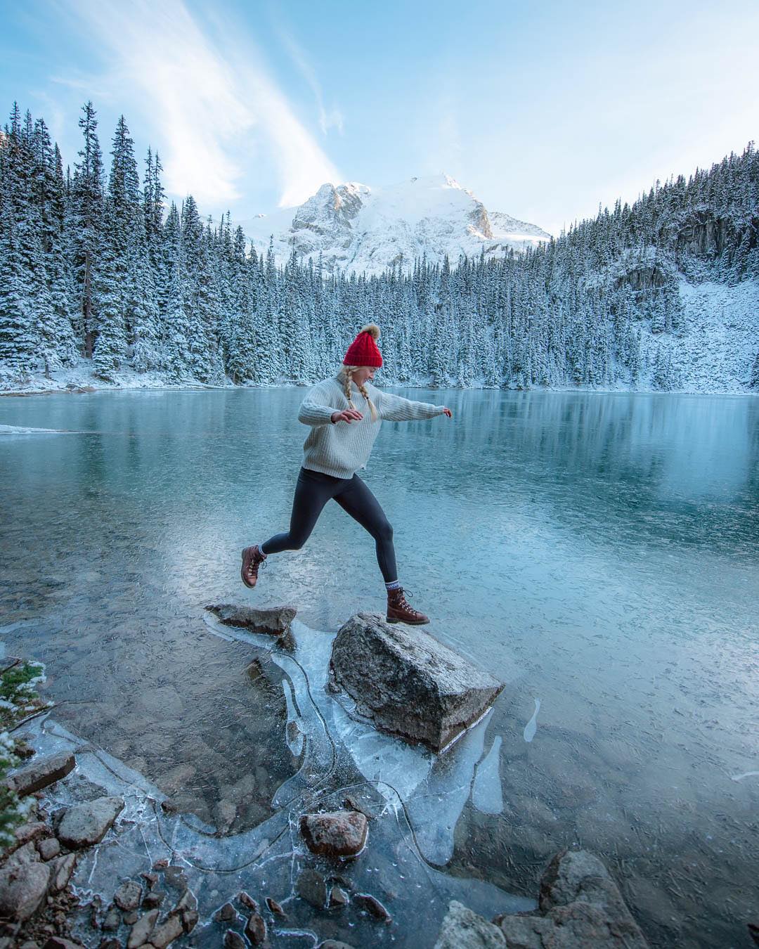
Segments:
[[[83,365],[105,383],[310,382],[376,322],[383,381],[759,389],[752,142],[524,254],[324,277],[256,253],[229,213],[204,222],[192,195],[166,209],[160,159],[140,182],[123,117],[108,169],[91,102],[79,124],[73,170],[15,103],[0,133],[3,388]]]

